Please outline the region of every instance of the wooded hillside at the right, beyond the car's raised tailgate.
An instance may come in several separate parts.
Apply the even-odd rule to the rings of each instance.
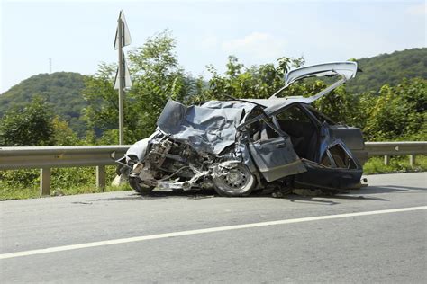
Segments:
[[[351,93],[377,92],[384,84],[399,84],[402,78],[427,79],[427,48],[405,49],[357,61],[363,72],[347,84]]]

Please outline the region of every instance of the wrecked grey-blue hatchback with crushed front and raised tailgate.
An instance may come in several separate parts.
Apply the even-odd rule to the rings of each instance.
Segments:
[[[169,100],[149,137],[117,162],[135,191],[214,189],[221,196],[252,191],[358,189],[366,157],[360,129],[337,124],[311,103],[357,73],[357,63],[301,67],[269,99],[231,99],[185,106]],[[313,76],[338,80],[311,97],[277,97]]]

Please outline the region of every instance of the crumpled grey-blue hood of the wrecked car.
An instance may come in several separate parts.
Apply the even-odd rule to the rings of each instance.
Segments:
[[[250,102],[219,101],[186,107],[169,100],[157,125],[172,138],[189,143],[195,151],[217,155],[235,142],[236,127],[254,107]]]

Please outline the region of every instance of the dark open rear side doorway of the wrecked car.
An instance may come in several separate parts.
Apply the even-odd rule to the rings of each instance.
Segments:
[[[314,158],[318,140],[317,129],[308,115],[296,104],[276,115],[277,123],[290,136],[296,154],[307,160]]]

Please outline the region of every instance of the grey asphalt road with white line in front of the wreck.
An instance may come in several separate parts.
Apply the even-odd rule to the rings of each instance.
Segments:
[[[425,283],[427,173],[368,182],[335,197],[3,201],[0,281]]]

